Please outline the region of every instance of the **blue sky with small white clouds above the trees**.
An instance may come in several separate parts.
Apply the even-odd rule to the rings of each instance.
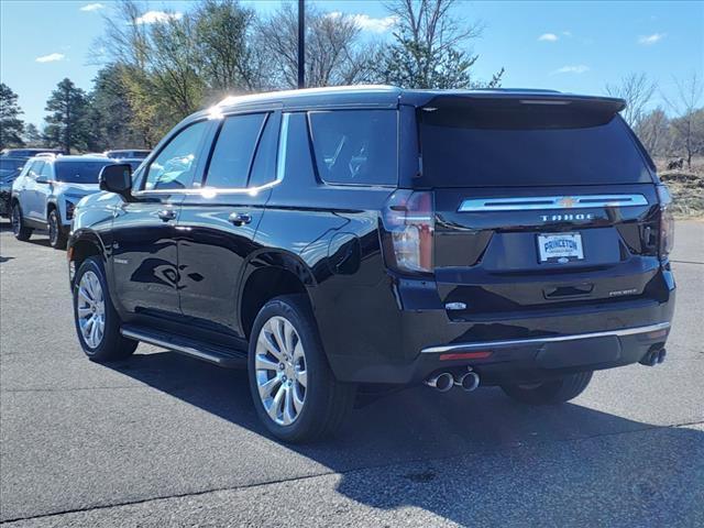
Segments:
[[[385,11],[373,0],[311,1],[323,11],[360,15],[370,38],[386,38]],[[0,79],[19,96],[25,120],[40,124],[55,85],[69,77],[89,90],[99,66],[90,51],[110,0],[0,0]],[[152,1],[148,9],[186,11],[190,2]],[[266,13],[278,0],[242,3]],[[475,2],[458,15],[485,25],[473,42],[475,75],[504,66],[504,87],[603,94],[606,82],[645,72],[671,96],[672,76],[704,76],[704,2]],[[653,105],[662,103],[658,94]]]

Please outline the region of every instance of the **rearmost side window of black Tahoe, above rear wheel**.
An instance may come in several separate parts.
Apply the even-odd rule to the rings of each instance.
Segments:
[[[395,185],[395,110],[309,112],[316,165],[331,184]]]

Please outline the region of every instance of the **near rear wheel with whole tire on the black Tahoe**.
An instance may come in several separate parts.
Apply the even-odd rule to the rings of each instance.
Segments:
[[[283,350],[277,326],[278,334],[289,338],[283,338]],[[254,320],[248,361],[256,414],[280,440],[304,443],[332,435],[352,408],[355,386],[334,377],[302,295],[276,297],[264,305]]]

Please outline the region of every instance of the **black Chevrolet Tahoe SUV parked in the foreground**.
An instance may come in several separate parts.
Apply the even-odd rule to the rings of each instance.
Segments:
[[[333,430],[360,385],[552,404],[595,370],[653,365],[672,219],[623,108],[393,87],[226,99],[77,205],[78,339],[95,361],[143,341],[248,364],[287,441]]]

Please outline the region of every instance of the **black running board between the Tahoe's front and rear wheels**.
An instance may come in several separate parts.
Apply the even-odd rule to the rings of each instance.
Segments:
[[[204,360],[218,366],[229,369],[246,367],[246,352],[241,350],[204,343],[195,339],[138,327],[135,324],[123,324],[122,328],[120,328],[120,333],[125,338],[173,350],[179,354]]]

